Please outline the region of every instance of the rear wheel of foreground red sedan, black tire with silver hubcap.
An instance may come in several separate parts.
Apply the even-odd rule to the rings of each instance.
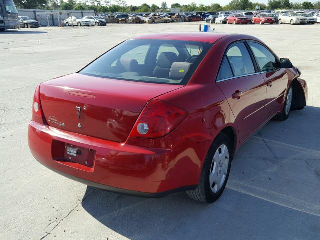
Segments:
[[[188,196],[204,203],[216,201],[227,183],[231,160],[230,139],[226,134],[219,133],[205,157],[199,184],[196,189],[186,192]]]

